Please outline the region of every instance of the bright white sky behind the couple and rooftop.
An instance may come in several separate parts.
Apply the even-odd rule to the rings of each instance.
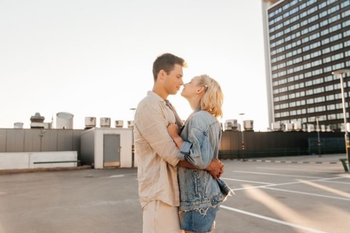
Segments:
[[[162,53],[184,58],[184,82],[199,74],[224,93],[223,119],[268,126],[261,0],[0,0],[0,128],[40,112],[133,119],[152,89]],[[182,119],[192,111],[180,92],[169,97]]]

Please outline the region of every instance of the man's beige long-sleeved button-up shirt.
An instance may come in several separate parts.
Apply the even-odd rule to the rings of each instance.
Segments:
[[[175,116],[165,104],[158,94],[149,91],[135,112],[134,143],[142,208],[154,200],[179,206],[179,149],[167,131],[168,125],[175,123]]]

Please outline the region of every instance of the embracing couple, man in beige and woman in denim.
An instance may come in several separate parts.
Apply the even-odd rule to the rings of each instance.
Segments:
[[[183,84],[184,60],[163,54],[153,62],[154,85],[137,106],[134,123],[143,233],[214,232],[220,203],[231,189],[217,159],[223,94],[200,75]],[[193,112],[183,124],[167,100],[181,96]]]

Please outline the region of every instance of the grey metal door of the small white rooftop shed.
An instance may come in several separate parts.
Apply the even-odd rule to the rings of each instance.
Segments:
[[[121,136],[119,134],[103,135],[103,166],[120,166]]]

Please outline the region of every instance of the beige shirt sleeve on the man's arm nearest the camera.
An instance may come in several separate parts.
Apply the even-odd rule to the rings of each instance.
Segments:
[[[159,104],[146,104],[138,109],[135,126],[163,160],[172,166],[178,164],[179,149],[168,133],[168,122]]]

